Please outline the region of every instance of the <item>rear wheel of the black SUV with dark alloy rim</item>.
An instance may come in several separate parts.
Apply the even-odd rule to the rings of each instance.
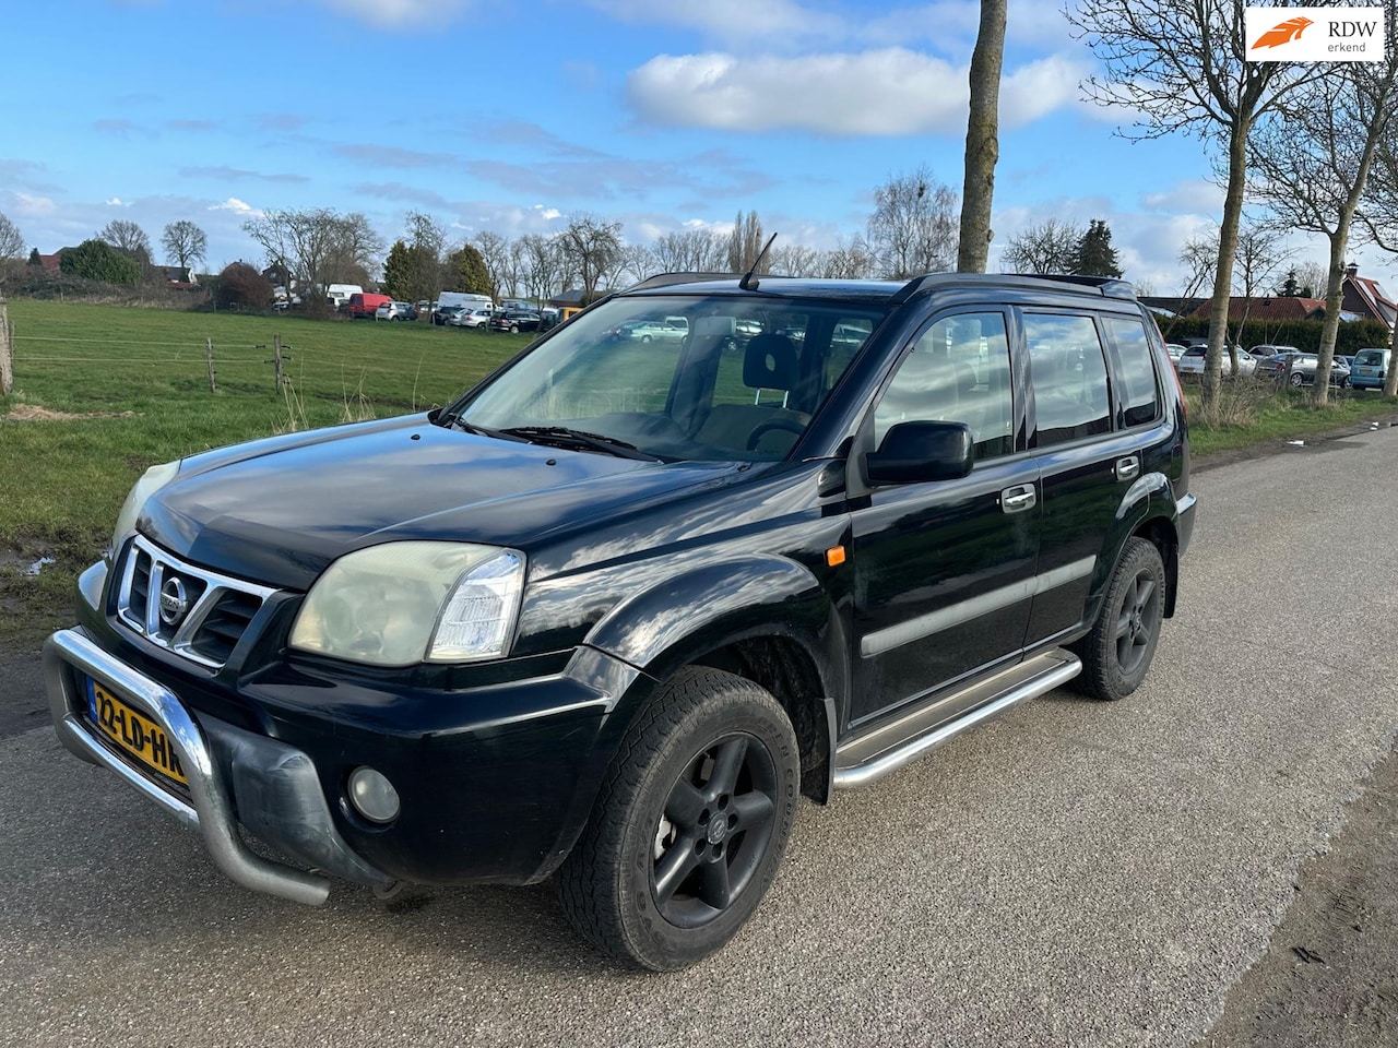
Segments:
[[[1074,646],[1074,686],[1109,701],[1131,694],[1151,669],[1165,622],[1165,563],[1155,544],[1128,538],[1092,632]]]

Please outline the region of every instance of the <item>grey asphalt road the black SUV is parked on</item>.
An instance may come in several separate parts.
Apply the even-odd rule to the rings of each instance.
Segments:
[[[1398,429],[1194,489],[1135,696],[1055,692],[804,805],[754,922],[672,975],[611,968],[548,886],[249,894],[20,708],[0,1044],[1190,1045],[1398,728]],[[6,703],[39,701],[27,665],[0,660]]]

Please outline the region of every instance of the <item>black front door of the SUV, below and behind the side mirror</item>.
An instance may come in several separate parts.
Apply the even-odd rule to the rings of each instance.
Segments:
[[[1001,309],[938,314],[877,400],[875,447],[899,422],[966,422],[977,461],[962,479],[875,488],[851,513],[854,724],[1023,648],[1039,507],[1015,454],[1009,324]]]

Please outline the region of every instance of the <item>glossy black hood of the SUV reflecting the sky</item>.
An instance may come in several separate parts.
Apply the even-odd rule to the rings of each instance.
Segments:
[[[528,552],[737,470],[496,440],[418,415],[196,457],[138,527],[196,565],[303,590],[351,549],[450,539]]]

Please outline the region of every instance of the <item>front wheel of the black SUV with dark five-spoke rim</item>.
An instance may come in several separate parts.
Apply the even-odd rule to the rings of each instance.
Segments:
[[[705,667],[656,694],[558,871],[572,925],[651,971],[724,946],[758,908],[795,822],[791,721],[749,681]]]

